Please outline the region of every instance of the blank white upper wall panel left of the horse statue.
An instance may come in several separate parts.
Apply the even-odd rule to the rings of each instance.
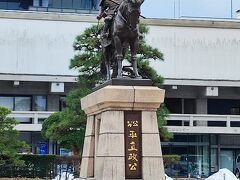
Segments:
[[[0,18],[0,73],[76,75],[75,37],[90,23]]]

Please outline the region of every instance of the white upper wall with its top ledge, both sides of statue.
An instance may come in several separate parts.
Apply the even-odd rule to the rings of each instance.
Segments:
[[[0,73],[77,75],[68,69],[74,56],[72,44],[76,35],[96,22],[95,16],[54,13],[12,15],[19,19],[3,18],[5,13],[0,16]],[[28,20],[30,17],[35,20]],[[165,55],[164,62],[153,63],[165,78],[240,80],[239,22],[154,21],[155,24],[146,21],[154,24],[147,40]],[[196,27],[199,23],[205,27]],[[206,28],[212,24],[220,26],[219,23],[225,28]]]

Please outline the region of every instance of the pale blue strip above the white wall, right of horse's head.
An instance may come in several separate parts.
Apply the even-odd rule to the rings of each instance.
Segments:
[[[238,9],[240,0],[145,0],[142,15],[148,18],[235,18]]]

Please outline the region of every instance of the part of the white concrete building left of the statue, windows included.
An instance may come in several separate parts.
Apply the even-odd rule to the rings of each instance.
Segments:
[[[74,56],[72,45],[95,21],[89,13],[97,10],[78,0],[71,1],[81,5],[74,5],[74,13],[59,13],[67,11],[67,1],[61,0],[61,7],[55,7],[58,1],[49,1],[52,6],[45,9],[39,8],[47,1],[36,2],[0,1],[0,106],[12,110],[11,116],[20,122],[21,139],[33,153],[39,153],[41,144],[48,144],[46,153],[59,153],[54,143],[42,138],[41,124],[62,109],[63,97],[74,87],[77,72],[68,68]]]

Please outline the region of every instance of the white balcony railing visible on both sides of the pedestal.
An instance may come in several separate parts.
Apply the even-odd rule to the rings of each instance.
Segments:
[[[41,131],[42,120],[52,113],[49,111],[12,111],[9,117],[31,119],[30,123],[20,123],[19,131]],[[220,133],[240,134],[240,116],[205,114],[170,114],[167,118],[169,131],[174,133]]]

